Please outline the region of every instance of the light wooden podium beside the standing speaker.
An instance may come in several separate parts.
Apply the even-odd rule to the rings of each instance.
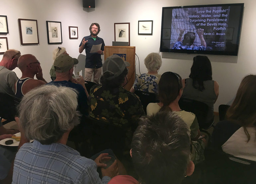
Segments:
[[[107,57],[112,56],[113,54],[119,55],[123,60],[130,63],[130,66],[127,68],[129,69],[127,79],[128,83],[124,87],[126,90],[130,91],[134,80],[135,80],[135,47],[130,46],[105,46],[104,47],[104,60]]]

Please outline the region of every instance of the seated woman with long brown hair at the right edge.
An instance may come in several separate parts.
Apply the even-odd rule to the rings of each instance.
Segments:
[[[217,123],[212,146],[238,158],[256,161],[256,75],[243,78],[228,108],[227,120]]]

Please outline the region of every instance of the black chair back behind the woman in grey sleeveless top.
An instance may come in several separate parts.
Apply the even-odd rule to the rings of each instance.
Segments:
[[[207,122],[209,107],[206,103],[188,98],[180,98],[179,106],[182,110],[193,112],[196,115],[200,129],[208,129],[213,124],[213,119]]]

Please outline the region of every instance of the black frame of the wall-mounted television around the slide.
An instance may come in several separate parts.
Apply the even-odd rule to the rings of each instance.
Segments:
[[[239,18],[239,24],[238,24],[238,30],[237,30],[236,48],[235,48],[234,51],[183,50],[183,49],[171,49],[171,48],[163,48],[162,47],[163,46],[163,29],[165,29],[164,25],[163,25],[164,24],[164,11],[165,10],[167,10],[167,9],[178,9],[178,8],[180,9],[180,8],[218,7],[218,6],[240,6],[240,12],[239,12],[240,13],[240,18]],[[244,8],[244,3],[163,7],[162,8],[162,25],[161,25],[161,38],[160,38],[161,39],[161,42],[160,42],[160,52],[193,53],[193,54],[213,54],[213,55],[233,55],[233,56],[237,56],[238,48],[239,48],[239,41],[240,41],[240,34],[241,34],[241,27],[242,27],[243,8]]]

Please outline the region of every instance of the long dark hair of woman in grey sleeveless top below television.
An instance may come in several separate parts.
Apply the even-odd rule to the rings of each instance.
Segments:
[[[204,91],[204,81],[213,80],[212,65],[207,56],[195,56],[189,77],[193,79],[193,87]]]

